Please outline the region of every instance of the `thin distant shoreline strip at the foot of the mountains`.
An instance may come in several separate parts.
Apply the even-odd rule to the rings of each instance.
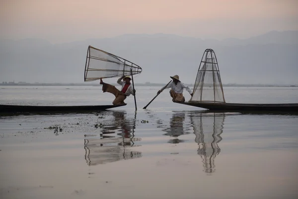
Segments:
[[[112,84],[116,86],[117,84]],[[186,84],[193,87],[193,84]],[[101,86],[100,84],[84,84],[84,83],[4,83],[0,86]],[[150,84],[135,84],[136,87],[163,87],[164,84],[150,83]],[[223,84],[223,87],[298,87],[298,85],[270,85],[270,84]]]

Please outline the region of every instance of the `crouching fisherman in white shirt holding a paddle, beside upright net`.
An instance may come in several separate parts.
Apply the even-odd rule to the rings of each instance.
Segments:
[[[172,101],[174,102],[184,102],[185,98],[183,96],[183,89],[186,89],[186,91],[188,91],[188,93],[193,96],[193,93],[191,92],[190,88],[188,86],[186,86],[185,84],[183,84],[182,82],[180,82],[179,80],[179,76],[178,75],[174,75],[172,78],[173,82],[171,82],[170,84],[168,84],[164,89],[168,89],[171,88],[170,90],[170,96],[173,98]],[[157,92],[157,94],[160,94],[161,91],[159,90]]]

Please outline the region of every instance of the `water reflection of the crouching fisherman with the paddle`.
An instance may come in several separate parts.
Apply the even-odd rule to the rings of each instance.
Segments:
[[[184,132],[183,124],[185,120],[185,112],[179,111],[174,112],[172,118],[170,119],[170,126],[163,131],[166,131],[163,135],[168,135],[174,137],[174,139],[170,139],[168,143],[178,144],[180,142],[184,142],[184,140],[178,139],[178,136],[183,134],[189,134],[188,132]]]

